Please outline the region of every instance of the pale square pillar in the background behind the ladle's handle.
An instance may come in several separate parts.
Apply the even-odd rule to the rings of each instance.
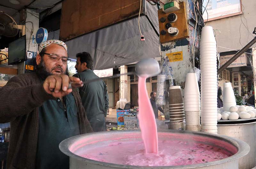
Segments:
[[[120,76],[120,100],[128,100],[128,76],[127,76],[127,66],[121,66],[120,68],[120,74],[126,74],[126,75],[122,75]]]

